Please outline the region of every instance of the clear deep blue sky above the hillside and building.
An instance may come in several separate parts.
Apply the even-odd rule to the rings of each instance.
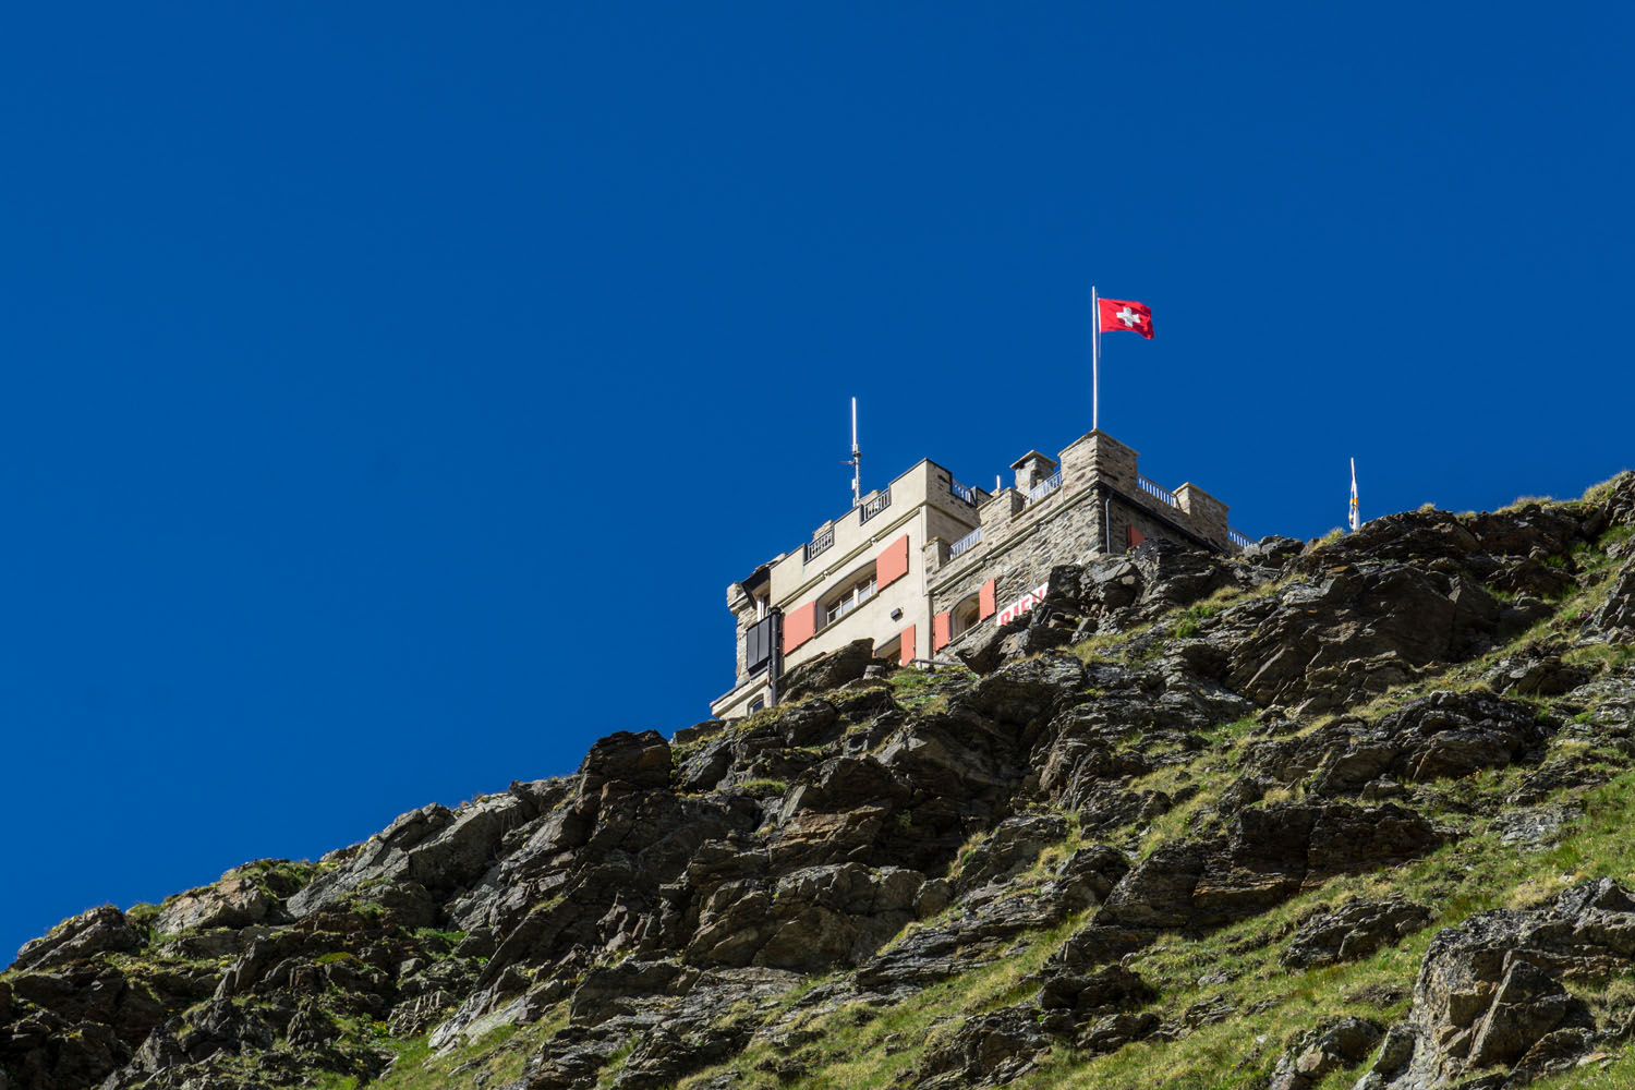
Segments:
[[[572,770],[922,456],[1251,534],[1635,461],[1628,5],[11,5],[0,963]]]

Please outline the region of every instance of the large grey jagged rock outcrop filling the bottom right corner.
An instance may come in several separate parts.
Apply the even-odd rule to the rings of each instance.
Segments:
[[[1496,1064],[1519,1065],[1512,1079],[1525,1082],[1571,1062],[1596,1026],[1565,982],[1632,967],[1635,899],[1606,878],[1543,909],[1473,915],[1431,940],[1414,1007],[1359,1088],[1424,1090]]]

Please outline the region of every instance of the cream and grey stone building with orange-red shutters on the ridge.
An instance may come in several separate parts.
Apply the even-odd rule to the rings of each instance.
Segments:
[[[1151,538],[1221,552],[1249,544],[1225,503],[1143,477],[1136,453],[1104,431],[1059,459],[1028,451],[1010,469],[1012,487],[986,492],[922,461],[729,585],[737,681],[711,713],[757,711],[775,701],[783,670],[858,639],[904,665],[943,659],[978,624],[1032,608],[1056,564]]]

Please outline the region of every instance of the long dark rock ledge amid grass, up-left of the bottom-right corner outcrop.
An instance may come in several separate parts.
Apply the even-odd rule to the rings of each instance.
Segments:
[[[1264,912],[1300,889],[1370,871],[1442,843],[1398,806],[1282,804],[1233,817],[1226,835],[1159,847],[1112,891],[1095,923],[1208,928]]]

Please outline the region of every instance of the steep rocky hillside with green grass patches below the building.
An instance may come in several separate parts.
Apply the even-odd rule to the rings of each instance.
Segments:
[[[0,976],[0,1088],[1635,1085],[1635,476],[1058,567]]]

